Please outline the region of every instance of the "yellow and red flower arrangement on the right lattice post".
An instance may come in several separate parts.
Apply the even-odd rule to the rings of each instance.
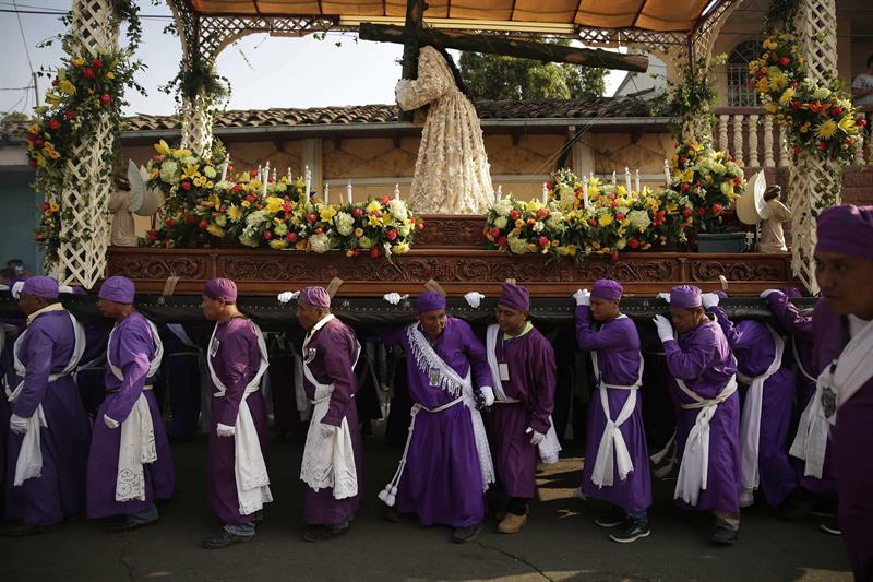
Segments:
[[[866,119],[840,92],[840,83],[818,86],[805,76],[792,35],[776,32],[762,44],[764,54],[749,63],[749,85],[764,108],[785,127],[792,156],[821,152],[840,165],[850,164],[861,144]]]

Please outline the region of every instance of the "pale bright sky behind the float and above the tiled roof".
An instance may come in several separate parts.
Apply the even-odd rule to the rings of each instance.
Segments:
[[[70,0],[0,0],[0,10],[20,11],[0,12],[0,54],[4,57],[0,68],[0,111],[29,111],[36,96],[33,88],[22,87],[33,85],[31,71],[57,67],[62,56],[58,43],[37,48],[43,40],[63,32],[59,17],[22,12],[69,11],[71,3]],[[170,15],[164,2],[152,5],[150,0],[137,0],[137,4],[142,15]],[[147,69],[136,80],[148,95],[129,92],[127,115],[167,115],[175,110],[172,97],[158,91],[178,72],[181,55],[179,39],[163,32],[169,22],[142,20],[143,40],[136,56]],[[229,109],[381,104],[394,102],[402,54],[400,45],[357,41],[350,34],[330,34],[324,40],[259,34],[226,48],[218,57],[217,70],[231,82]],[[623,76],[622,71],[609,75],[607,94],[615,90]],[[49,81],[40,78],[37,83],[41,103]]]

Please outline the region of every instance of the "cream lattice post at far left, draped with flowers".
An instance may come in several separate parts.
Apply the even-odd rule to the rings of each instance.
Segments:
[[[74,56],[99,57],[118,49],[118,19],[111,0],[75,0],[71,36]],[[64,284],[93,287],[104,275],[109,240],[110,152],[115,140],[110,115],[95,114],[93,133],[73,144],[61,191],[69,218],[61,222],[61,245],[55,274]]]

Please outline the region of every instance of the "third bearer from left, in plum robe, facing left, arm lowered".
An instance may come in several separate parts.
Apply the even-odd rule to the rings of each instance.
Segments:
[[[206,364],[212,424],[206,459],[206,501],[225,525],[203,547],[250,542],[264,503],[273,500],[266,472],[266,403],[261,377],[267,354],[261,330],[237,309],[237,285],[214,278],[203,287],[203,314],[215,321]]]

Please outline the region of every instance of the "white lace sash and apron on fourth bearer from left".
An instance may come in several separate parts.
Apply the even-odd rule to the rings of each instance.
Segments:
[[[325,316],[307,334],[303,340],[302,353],[304,355],[315,333],[334,319],[336,318],[333,313]],[[361,345],[357,340],[355,347],[352,369],[361,354]],[[355,497],[358,495],[358,472],[355,466],[355,450],[351,446],[348,418],[344,416],[331,436],[325,437],[321,432],[321,420],[330,408],[334,384],[322,384],[315,380],[306,358],[303,359],[303,375],[315,388],[315,397],[310,401],[313,405],[312,419],[309,421],[309,430],[307,430],[307,443],[303,447],[303,460],[300,463],[300,479],[315,491],[333,488],[334,499]]]

